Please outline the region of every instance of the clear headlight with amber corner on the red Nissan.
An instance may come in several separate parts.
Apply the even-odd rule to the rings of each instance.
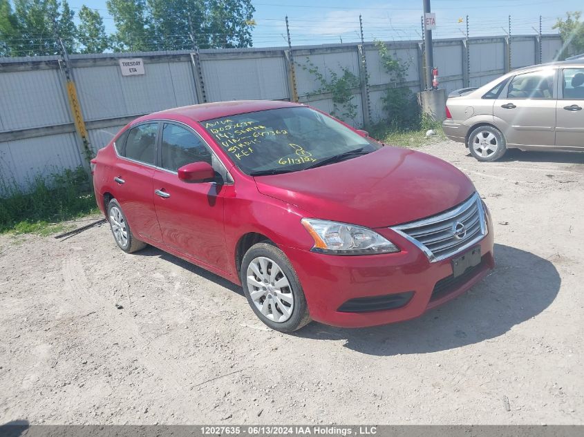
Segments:
[[[375,255],[399,249],[371,229],[355,224],[303,218],[301,223],[314,239],[312,251],[332,255]]]

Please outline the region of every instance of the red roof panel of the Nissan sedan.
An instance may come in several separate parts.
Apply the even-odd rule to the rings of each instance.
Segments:
[[[233,101],[216,101],[214,103],[205,103],[191,106],[182,106],[180,108],[171,108],[161,110],[158,113],[144,115],[135,122],[143,122],[149,119],[160,118],[189,118],[195,122],[205,120],[229,117],[243,113],[253,113],[259,110],[294,108],[303,106],[302,104],[291,103],[289,101],[278,100],[233,100]],[[133,124],[135,124],[135,122]]]

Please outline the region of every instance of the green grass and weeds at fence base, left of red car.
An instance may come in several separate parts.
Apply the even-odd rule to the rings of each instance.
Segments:
[[[95,196],[83,168],[37,176],[23,191],[14,181],[0,178],[0,233],[50,235],[66,231],[73,220],[97,213]]]

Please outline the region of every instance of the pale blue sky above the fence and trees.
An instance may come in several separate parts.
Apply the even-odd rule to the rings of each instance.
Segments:
[[[78,12],[85,4],[104,17],[107,32],[113,32],[113,19],[106,0],[69,0]],[[360,40],[359,14],[363,20],[365,41],[380,39],[421,39],[422,0],[252,0],[256,27],[252,33],[255,47],[285,46],[284,18],[288,15],[293,46]],[[552,30],[565,12],[583,10],[583,0],[432,0],[437,28],[434,38],[462,37],[469,16],[469,36],[534,35],[542,16],[543,33]]]

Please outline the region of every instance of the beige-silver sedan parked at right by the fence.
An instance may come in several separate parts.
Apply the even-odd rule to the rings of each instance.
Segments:
[[[511,71],[446,101],[444,133],[479,161],[507,148],[584,152],[584,60]]]

